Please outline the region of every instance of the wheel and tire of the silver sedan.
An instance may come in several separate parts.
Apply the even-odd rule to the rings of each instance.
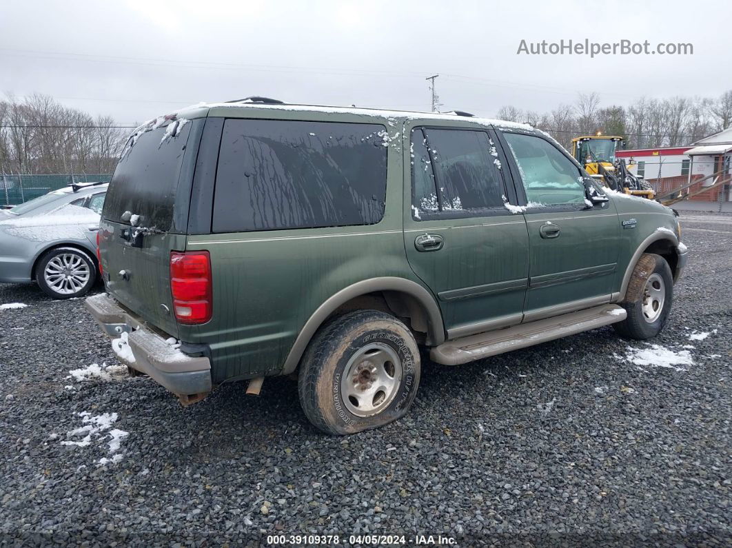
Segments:
[[[97,280],[97,266],[81,249],[57,247],[40,258],[35,275],[38,286],[48,296],[71,299],[89,292]]]

